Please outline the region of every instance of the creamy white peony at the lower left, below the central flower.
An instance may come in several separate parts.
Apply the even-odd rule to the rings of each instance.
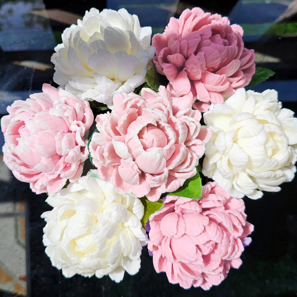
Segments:
[[[45,252],[65,277],[109,275],[120,282],[125,270],[134,275],[140,268],[141,249],[148,242],[140,222],[144,207],[91,171],[47,198],[53,210],[41,215]]]

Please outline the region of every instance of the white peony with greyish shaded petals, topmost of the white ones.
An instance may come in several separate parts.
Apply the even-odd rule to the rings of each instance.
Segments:
[[[140,27],[137,15],[127,10],[95,8],[62,34],[55,47],[54,81],[85,100],[112,108],[113,94],[131,93],[145,82],[155,54],[151,27]]]

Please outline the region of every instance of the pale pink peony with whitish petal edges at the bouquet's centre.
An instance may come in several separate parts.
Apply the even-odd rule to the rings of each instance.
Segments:
[[[111,113],[96,118],[89,150],[100,178],[112,181],[119,193],[159,199],[196,174],[210,137],[200,127],[201,114],[192,99],[171,97],[143,88],[141,97],[116,94]]]

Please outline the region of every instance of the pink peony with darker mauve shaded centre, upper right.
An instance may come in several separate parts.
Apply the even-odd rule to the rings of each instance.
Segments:
[[[230,26],[227,17],[186,9],[153,36],[154,63],[173,96],[190,96],[193,108],[204,112],[209,102],[222,103],[247,86],[255,73],[254,50],[244,48],[242,35],[241,26]]]

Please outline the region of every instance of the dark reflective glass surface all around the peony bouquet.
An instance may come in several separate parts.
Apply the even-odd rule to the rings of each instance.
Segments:
[[[245,31],[245,47],[256,52],[258,67],[276,74],[252,87],[255,91],[277,89],[283,107],[297,111],[297,0],[109,0],[49,1],[0,0],[0,115],[16,99],[40,92],[53,82],[53,48],[61,33],[85,10],[125,7],[135,13],[141,26],[162,32],[170,16],[185,8],[229,16]],[[297,131],[296,131],[297,132]],[[0,145],[3,145],[1,134]],[[144,247],[138,274],[125,273],[121,283],[109,277],[78,275],[67,279],[51,266],[42,244],[40,218],[51,209],[46,195],[35,195],[29,184],[17,181],[0,162],[0,296],[295,296],[297,294],[297,185],[282,184],[279,193],[262,199],[245,199],[248,221],[255,225],[252,244],[241,257],[239,270],[218,287],[205,292],[171,285],[157,274]],[[265,210],[265,211],[264,211]]]

